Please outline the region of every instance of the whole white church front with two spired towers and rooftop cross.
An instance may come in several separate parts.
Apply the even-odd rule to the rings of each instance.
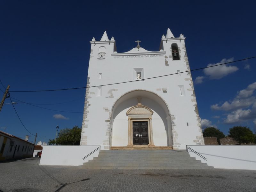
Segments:
[[[204,145],[185,37],[174,37],[168,28],[155,52],[137,42],[123,53],[106,32],[90,42],[80,145],[106,150]]]

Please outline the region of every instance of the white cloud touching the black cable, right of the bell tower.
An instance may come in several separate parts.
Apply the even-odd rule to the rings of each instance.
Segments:
[[[207,67],[231,62],[233,60],[234,60],[234,58],[222,59],[219,63],[208,64]],[[221,79],[222,77],[227,76],[228,74],[233,73],[238,70],[238,68],[236,66],[231,66],[231,65],[227,66],[227,65],[220,65],[220,66],[216,66],[216,67],[205,68],[204,74],[209,76],[210,79]]]

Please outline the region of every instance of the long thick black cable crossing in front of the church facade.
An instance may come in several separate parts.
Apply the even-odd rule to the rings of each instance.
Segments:
[[[182,71],[182,72],[172,73],[172,74],[168,74],[168,75],[161,75],[161,76],[156,76],[156,77],[149,77],[149,78],[145,78],[145,79],[132,80],[132,81],[124,81],[124,82],[112,83],[112,84],[103,84],[103,85],[95,85],[95,86],[89,86],[89,87],[76,87],[76,88],[67,88],[67,89],[51,89],[51,90],[35,90],[35,91],[9,91],[9,92],[47,92],[47,91],[64,91],[64,90],[85,89],[85,88],[99,87],[99,86],[107,86],[107,85],[116,85],[116,84],[123,84],[123,83],[130,83],[130,82],[142,81],[142,80],[147,80],[147,79],[154,79],[154,78],[159,78],[159,77],[164,77],[164,76],[177,75],[177,74],[180,74],[180,73],[187,73],[187,72],[191,72],[191,71],[201,70],[201,69],[210,68],[210,67],[216,67],[216,66],[220,66],[220,65],[226,65],[226,64],[229,64],[229,63],[234,63],[234,62],[244,61],[244,60],[249,60],[249,59],[254,59],[254,58],[256,58],[256,56],[254,56],[254,57],[249,57],[249,58],[245,58],[245,59],[240,59],[240,60],[235,60],[235,61],[230,61],[230,62],[227,62],[227,63],[221,63],[221,64],[218,64],[218,65],[212,65],[212,66],[208,66],[208,67],[203,67],[203,68],[197,68],[197,69],[192,69],[192,70],[188,70],[188,71]]]

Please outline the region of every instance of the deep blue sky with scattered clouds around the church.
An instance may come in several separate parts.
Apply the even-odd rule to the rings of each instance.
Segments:
[[[146,50],[158,51],[167,28],[176,37],[182,33],[191,69],[256,56],[255,6],[252,1],[3,0],[0,79],[5,87],[10,84],[10,91],[84,87],[89,41],[100,40],[105,30],[115,37],[118,52],[131,50],[137,39]],[[243,125],[255,132],[255,62],[192,72],[204,127],[213,125],[228,134],[229,128]],[[4,91],[1,84],[0,89]],[[82,124],[84,89],[10,93],[38,106],[15,101],[23,124],[38,134],[37,141],[54,138],[57,125],[63,129]],[[10,100],[0,112],[0,130],[30,135],[7,103]]]

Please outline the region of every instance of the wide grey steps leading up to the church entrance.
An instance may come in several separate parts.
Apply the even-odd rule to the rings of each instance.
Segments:
[[[101,150],[86,169],[214,169],[186,150]]]

